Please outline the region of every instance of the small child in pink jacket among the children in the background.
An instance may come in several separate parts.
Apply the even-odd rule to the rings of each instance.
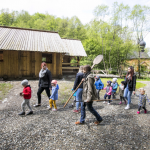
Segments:
[[[103,88],[104,90],[106,90],[106,94],[104,95],[104,99],[106,99],[108,97],[108,99],[111,98],[111,92],[112,92],[112,87],[111,87],[111,81],[107,81],[107,86],[105,88]],[[110,105],[110,100],[108,101],[108,104]],[[106,101],[104,101],[103,103],[106,103]]]

